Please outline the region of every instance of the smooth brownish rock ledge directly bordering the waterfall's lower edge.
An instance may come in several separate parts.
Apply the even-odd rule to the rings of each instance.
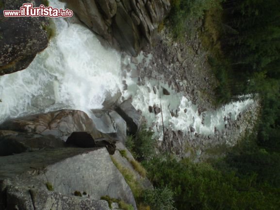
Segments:
[[[107,138],[82,111],[60,110],[10,119],[0,125],[2,130],[14,130],[41,135],[53,135],[64,141],[75,131],[88,132],[94,139]]]

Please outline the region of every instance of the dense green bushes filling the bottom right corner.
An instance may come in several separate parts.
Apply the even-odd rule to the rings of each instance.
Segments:
[[[280,190],[256,185],[255,176],[239,177],[210,164],[154,158],[146,165],[155,187],[174,192],[175,207],[183,210],[277,210]],[[274,192],[274,193],[272,193]]]

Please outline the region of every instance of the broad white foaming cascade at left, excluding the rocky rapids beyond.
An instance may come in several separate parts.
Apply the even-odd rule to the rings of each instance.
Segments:
[[[64,3],[50,2],[63,8]],[[121,86],[120,54],[79,24],[53,18],[56,36],[25,70],[0,77],[0,121],[62,108],[102,108]],[[53,104],[54,103],[54,104]]]

